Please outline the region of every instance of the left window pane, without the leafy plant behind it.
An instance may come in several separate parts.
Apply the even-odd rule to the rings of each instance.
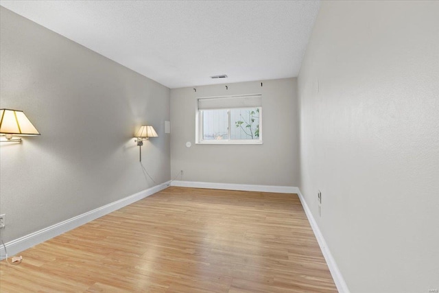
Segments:
[[[228,139],[227,110],[203,110],[203,139]]]

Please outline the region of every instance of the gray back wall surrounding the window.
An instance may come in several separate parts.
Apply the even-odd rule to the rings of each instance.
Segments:
[[[171,174],[182,180],[298,185],[297,80],[265,80],[171,89]],[[262,94],[262,145],[195,145],[200,97]],[[190,141],[191,148],[185,143]],[[180,177],[178,177],[180,179]]]

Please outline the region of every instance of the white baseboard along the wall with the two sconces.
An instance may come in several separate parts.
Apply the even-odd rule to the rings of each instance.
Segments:
[[[6,249],[8,250],[8,255],[12,256],[16,255],[17,253],[21,253],[21,251],[26,250],[27,248],[31,248],[36,244],[40,244],[41,242],[45,242],[62,233],[66,233],[73,228],[77,228],[83,224],[91,222],[97,218],[102,217],[103,215],[111,213],[112,211],[116,211],[118,209],[121,209],[122,207],[126,207],[128,204],[137,202],[137,200],[141,200],[142,198],[151,196],[152,194],[155,194],[156,192],[167,188],[169,185],[170,181],[161,185],[156,185],[149,189],[140,191],[137,194],[133,194],[132,196],[127,196],[126,198],[122,198],[121,200],[117,200],[102,207],[98,207],[97,209],[93,209],[93,211],[88,211],[86,213],[83,213],[82,215],[77,215],[76,217],[62,221],[58,224],[43,228],[40,231],[30,233],[18,239],[14,239],[11,242],[5,244]],[[5,248],[2,245],[0,248],[0,260],[5,259],[5,255]]]

